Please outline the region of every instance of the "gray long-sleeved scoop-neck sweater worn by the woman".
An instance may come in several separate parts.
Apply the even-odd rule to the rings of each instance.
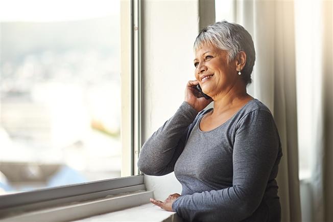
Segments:
[[[191,221],[280,221],[275,177],[281,143],[269,109],[249,101],[227,122],[201,131],[199,114],[183,102],[146,141],[139,169],[175,171],[182,185],[172,208]]]

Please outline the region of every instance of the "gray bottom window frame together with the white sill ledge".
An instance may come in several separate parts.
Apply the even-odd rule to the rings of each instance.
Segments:
[[[181,222],[175,212],[149,203],[144,175],[2,196],[0,220]]]

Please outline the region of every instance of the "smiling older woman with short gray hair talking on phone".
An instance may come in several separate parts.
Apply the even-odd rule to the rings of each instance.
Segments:
[[[190,221],[280,221],[275,177],[282,156],[270,110],[246,92],[255,51],[250,34],[222,21],[195,40],[195,78],[185,101],[142,146],[138,167],[175,171],[182,193],[151,202]],[[211,97],[199,96],[196,85]],[[203,110],[211,101],[213,108]]]

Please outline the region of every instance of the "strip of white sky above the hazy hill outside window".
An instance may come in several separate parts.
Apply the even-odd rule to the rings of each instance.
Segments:
[[[120,1],[0,0],[1,21],[65,21],[119,14]]]

